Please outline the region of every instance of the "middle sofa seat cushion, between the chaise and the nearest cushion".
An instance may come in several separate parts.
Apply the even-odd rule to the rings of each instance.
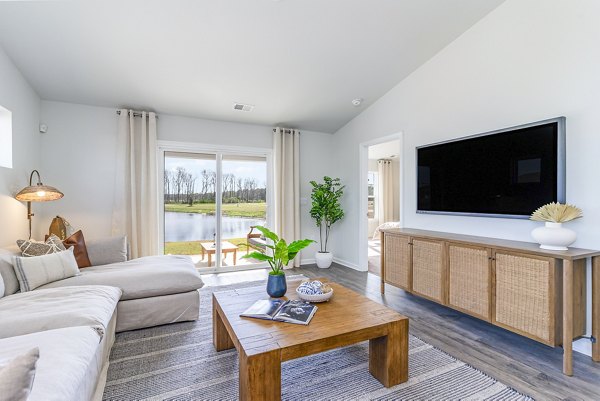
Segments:
[[[62,327],[94,326],[104,333],[121,290],[107,286],[49,288],[0,299],[0,338]]]

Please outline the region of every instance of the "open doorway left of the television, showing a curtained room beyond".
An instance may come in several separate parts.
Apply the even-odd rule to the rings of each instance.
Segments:
[[[383,228],[401,227],[401,134],[361,144],[361,266],[376,275],[381,270]]]

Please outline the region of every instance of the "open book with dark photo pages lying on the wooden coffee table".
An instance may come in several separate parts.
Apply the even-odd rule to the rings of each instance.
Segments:
[[[256,301],[240,316],[306,325],[316,311],[317,306],[308,302],[272,298]]]

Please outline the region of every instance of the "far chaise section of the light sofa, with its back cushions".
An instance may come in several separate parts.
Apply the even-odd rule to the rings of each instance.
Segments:
[[[200,310],[198,290],[202,280],[187,256],[148,256],[127,260],[125,238],[87,241],[91,267],[80,275],[37,288],[108,285],[123,292],[117,306],[117,332],[196,320]],[[18,249],[0,254],[0,274],[6,295],[18,291],[11,257]]]

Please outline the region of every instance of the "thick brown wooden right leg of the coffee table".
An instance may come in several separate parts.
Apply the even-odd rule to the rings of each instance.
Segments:
[[[408,380],[408,320],[390,323],[387,336],[369,340],[369,372],[385,387]]]

